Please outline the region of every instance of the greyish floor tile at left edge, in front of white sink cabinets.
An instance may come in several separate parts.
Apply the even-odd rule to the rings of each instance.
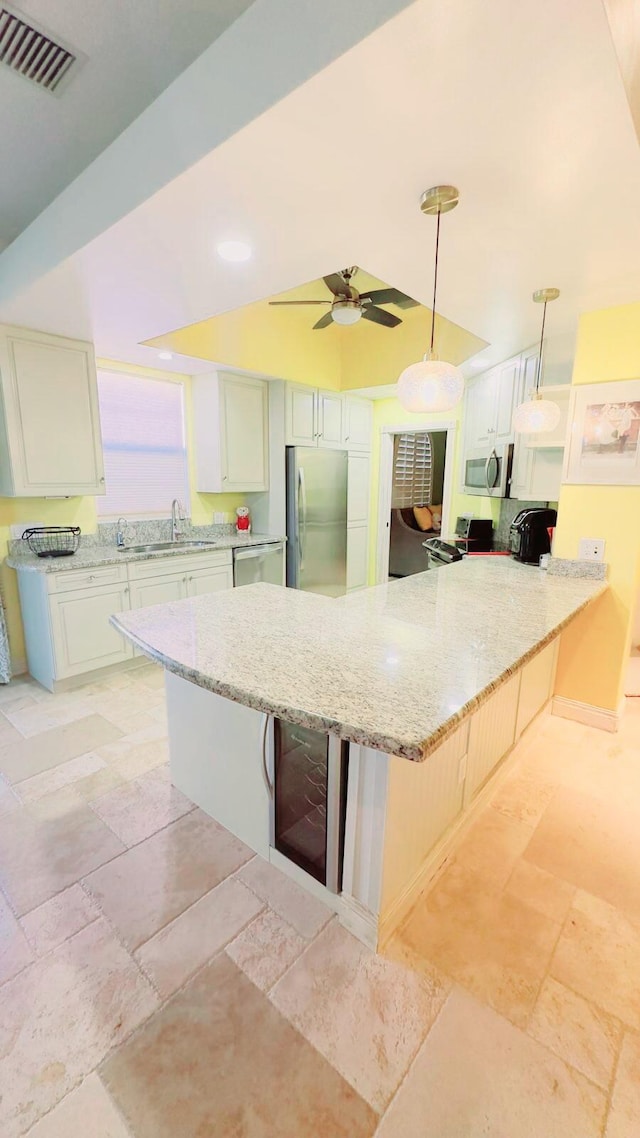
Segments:
[[[60,762],[87,754],[120,739],[122,732],[99,715],[44,731],[33,739],[0,747],[0,770],[10,782],[23,782]]]

